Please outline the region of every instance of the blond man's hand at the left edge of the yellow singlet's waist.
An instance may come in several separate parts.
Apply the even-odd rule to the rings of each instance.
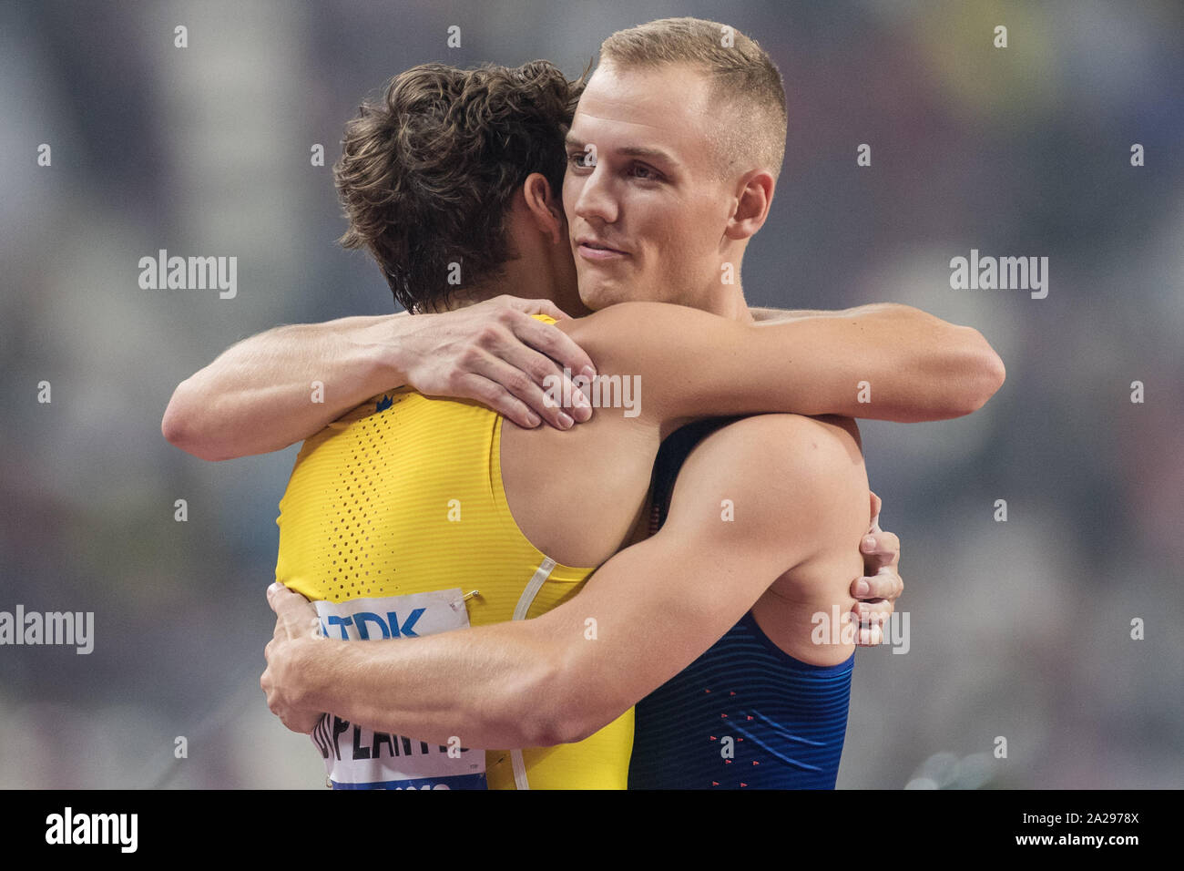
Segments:
[[[268,604],[276,613],[276,632],[263,651],[268,667],[259,686],[268,696],[271,712],[294,732],[308,735],[322,712],[301,706],[300,670],[292,659],[297,645],[322,639],[321,622],[313,603],[283,584],[268,588]]]

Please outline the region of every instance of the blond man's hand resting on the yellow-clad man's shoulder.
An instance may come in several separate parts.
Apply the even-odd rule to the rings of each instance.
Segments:
[[[549,300],[515,296],[398,318],[400,354],[406,358],[400,369],[426,396],[472,399],[527,429],[538,427],[540,418],[570,429],[592,417],[592,406],[571,379],[593,378],[596,367],[566,333],[532,314],[567,318]],[[545,385],[547,376],[554,380]],[[566,408],[565,397],[571,398]]]

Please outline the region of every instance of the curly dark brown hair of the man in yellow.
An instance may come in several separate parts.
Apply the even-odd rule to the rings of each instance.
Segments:
[[[504,223],[527,175],[562,188],[564,136],[585,76],[568,81],[547,60],[401,72],[379,103],[346,124],[333,167],[349,228],[339,242],[366,248],[408,312],[446,307],[462,264],[472,287],[501,274]]]

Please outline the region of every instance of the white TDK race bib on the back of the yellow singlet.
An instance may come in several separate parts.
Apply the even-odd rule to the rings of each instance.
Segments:
[[[414,639],[469,626],[459,589],[315,602],[332,639]],[[313,730],[334,789],[485,789],[485,751],[375,732],[326,713]]]

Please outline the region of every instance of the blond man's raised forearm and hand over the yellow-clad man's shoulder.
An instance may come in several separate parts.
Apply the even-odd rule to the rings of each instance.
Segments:
[[[161,430],[202,460],[264,454],[403,384],[481,402],[521,427],[540,420],[562,427],[565,409],[545,403],[538,384],[547,374],[562,376],[564,366],[578,373],[591,359],[559,329],[530,318],[536,312],[566,318],[546,300],[501,296],[443,314],[277,327],[238,342],[181,382]],[[314,382],[323,385],[317,402]],[[567,411],[577,420],[587,416]]]

